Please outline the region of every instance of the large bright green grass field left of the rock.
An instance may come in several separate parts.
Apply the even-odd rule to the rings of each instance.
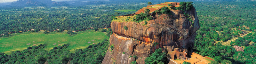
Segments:
[[[70,52],[75,52],[74,49],[84,49],[88,45],[93,43],[98,43],[104,39],[109,39],[105,33],[102,32],[85,32],[78,33],[73,36],[69,34],[19,34],[15,36],[0,38],[0,52],[5,52],[10,54],[10,51],[22,51],[33,44],[47,44],[47,50],[51,50],[53,47],[58,46],[58,44],[69,43]],[[89,43],[91,42],[91,43]],[[55,45],[54,45],[55,44]]]

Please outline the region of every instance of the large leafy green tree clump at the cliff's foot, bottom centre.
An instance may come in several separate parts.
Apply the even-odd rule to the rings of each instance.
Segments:
[[[162,52],[162,49],[156,49],[154,53],[152,53],[149,57],[147,57],[144,61],[145,64],[167,64],[166,61],[166,53]]]

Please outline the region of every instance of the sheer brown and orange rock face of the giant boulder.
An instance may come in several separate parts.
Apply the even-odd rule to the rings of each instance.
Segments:
[[[112,51],[108,49],[102,63],[130,64],[135,59],[129,56],[137,55],[137,63],[144,64],[146,57],[156,49],[168,50],[166,46],[179,46],[179,48],[192,50],[196,30],[200,28],[196,9],[193,7],[189,11],[185,10],[187,16],[181,10],[171,10],[171,12],[173,15],[152,14],[156,19],[149,20],[145,26],[142,25],[144,22],[112,21],[113,34],[109,40],[110,45],[114,45],[114,49]],[[193,20],[194,23],[187,18]],[[127,26],[128,30],[125,30],[124,26]]]

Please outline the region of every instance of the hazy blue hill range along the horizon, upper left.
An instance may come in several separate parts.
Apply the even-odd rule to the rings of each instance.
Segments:
[[[92,5],[92,4],[104,4],[100,1],[83,1],[83,0],[72,0],[55,2],[52,0],[18,0],[8,3],[0,3],[0,6],[67,6],[67,5]]]

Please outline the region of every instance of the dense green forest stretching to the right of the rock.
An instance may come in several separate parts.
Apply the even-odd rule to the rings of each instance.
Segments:
[[[253,64],[256,59],[256,34],[238,37],[230,45],[245,46],[244,52],[237,52],[233,46],[220,42],[237,37],[244,31],[256,32],[255,3],[250,2],[194,2],[200,29],[196,32],[194,51],[212,57],[216,63]],[[247,28],[249,27],[249,28]],[[220,41],[219,43],[215,43]]]

